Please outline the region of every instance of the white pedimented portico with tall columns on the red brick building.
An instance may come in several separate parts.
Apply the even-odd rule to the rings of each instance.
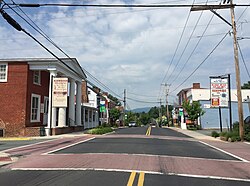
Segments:
[[[86,75],[81,70],[75,58],[62,59],[66,64],[58,60],[44,59],[29,62],[31,70],[40,70],[49,72],[49,104],[48,104],[48,121],[45,126],[46,135],[56,135],[73,131],[83,130],[81,123],[81,95],[82,81],[86,79]],[[54,80],[63,78],[67,80],[64,105],[55,105],[56,86]],[[62,85],[58,85],[62,86]],[[64,85],[65,86],[65,85]]]

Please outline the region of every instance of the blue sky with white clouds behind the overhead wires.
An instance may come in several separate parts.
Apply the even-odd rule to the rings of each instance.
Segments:
[[[15,3],[70,4],[214,4],[221,0],[13,0]],[[11,0],[5,0],[12,3]],[[250,3],[234,0],[235,4]],[[236,88],[235,63],[230,26],[211,11],[191,12],[190,8],[100,8],[100,7],[13,7],[30,19],[65,53],[102,85],[89,81],[123,99],[127,109],[174,104],[177,93],[200,83],[209,88],[210,76],[231,74]],[[58,57],[66,57],[45,40],[12,9],[4,9],[26,31]],[[25,13],[25,14],[24,14]],[[230,10],[217,10],[231,22]],[[28,17],[27,17],[27,16]],[[244,62],[239,55],[241,84],[250,81],[250,7],[236,7],[237,36]],[[33,24],[32,22],[30,22]],[[0,17],[0,59],[48,58],[51,54],[23,32]],[[227,35],[226,35],[227,34]],[[223,39],[224,38],[224,39]],[[248,71],[247,71],[248,70]],[[103,84],[105,85],[103,87]],[[167,85],[167,86],[164,86]],[[108,90],[107,90],[108,87]]]

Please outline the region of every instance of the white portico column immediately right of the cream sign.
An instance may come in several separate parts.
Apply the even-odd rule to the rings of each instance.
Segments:
[[[75,80],[70,79],[69,91],[69,126],[75,125]]]

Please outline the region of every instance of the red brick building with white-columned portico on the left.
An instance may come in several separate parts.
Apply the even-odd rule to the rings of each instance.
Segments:
[[[0,60],[0,136],[40,136],[83,129],[82,81],[75,58]],[[52,79],[68,80],[67,106],[52,107]]]

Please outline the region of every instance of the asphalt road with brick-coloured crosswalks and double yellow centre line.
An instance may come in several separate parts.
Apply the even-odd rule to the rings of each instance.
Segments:
[[[0,185],[249,185],[249,161],[169,128],[133,127],[4,151]]]

